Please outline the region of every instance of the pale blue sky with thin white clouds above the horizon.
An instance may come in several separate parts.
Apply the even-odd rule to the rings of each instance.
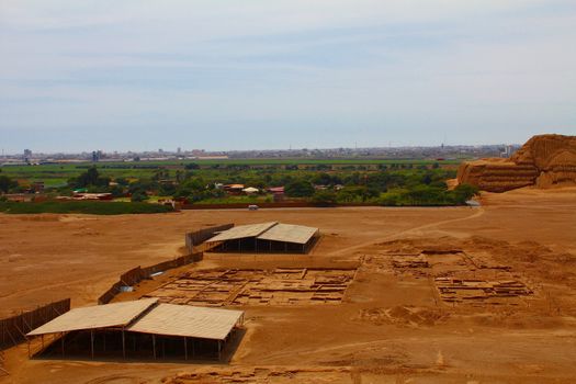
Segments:
[[[2,0],[4,153],[576,134],[575,0]]]

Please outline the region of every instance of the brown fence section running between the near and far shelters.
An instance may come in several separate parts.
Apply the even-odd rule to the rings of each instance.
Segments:
[[[110,303],[121,292],[123,286],[136,285],[145,279],[150,279],[150,275],[157,272],[163,272],[166,270],[182,267],[191,262],[197,262],[202,260],[203,256],[203,252],[195,252],[176,258],[173,260],[162,261],[150,267],[133,268],[129,271],[121,274],[120,281],[112,284],[112,286],[98,298],[98,304]]]

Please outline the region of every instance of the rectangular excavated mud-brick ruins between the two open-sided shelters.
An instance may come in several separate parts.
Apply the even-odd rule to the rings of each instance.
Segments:
[[[355,269],[222,269],[181,274],[147,297],[201,306],[339,304]]]

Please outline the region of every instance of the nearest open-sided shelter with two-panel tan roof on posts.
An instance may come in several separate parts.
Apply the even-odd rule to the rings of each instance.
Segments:
[[[41,336],[42,349],[35,354],[67,353],[94,358],[95,354],[126,358],[146,354],[188,360],[189,354],[217,355],[244,321],[242,310],[159,304],[157,298],[76,308],[27,334]],[[45,335],[59,336],[45,347]],[[158,339],[158,340],[157,340]],[[29,348],[31,339],[29,338]],[[30,352],[30,349],[29,349]]]

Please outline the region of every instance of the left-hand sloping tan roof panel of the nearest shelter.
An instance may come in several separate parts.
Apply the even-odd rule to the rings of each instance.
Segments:
[[[27,336],[68,332],[79,329],[125,327],[157,302],[158,298],[145,298],[75,308],[34,329]]]

